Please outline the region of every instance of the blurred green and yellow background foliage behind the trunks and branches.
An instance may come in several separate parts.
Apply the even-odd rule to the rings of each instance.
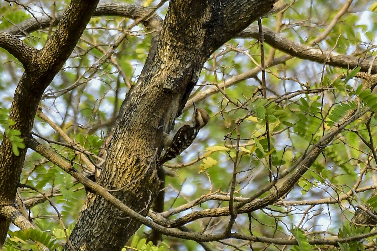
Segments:
[[[63,11],[68,2],[56,1],[55,11]],[[122,2],[143,6],[159,3],[154,0]],[[369,11],[374,1],[341,0],[329,3],[323,0],[281,0],[278,5],[286,6],[283,11],[264,18],[262,24],[293,42],[310,44],[331,25],[347,2],[352,2],[348,11],[333,25],[331,32],[313,46],[323,51],[352,55],[360,58],[360,61],[374,60],[377,55],[377,13]],[[1,1],[0,29],[17,26],[33,15],[51,15],[52,3],[43,0],[23,1],[24,8]],[[158,9],[157,13],[161,17],[166,14],[168,3]],[[87,157],[95,160],[93,156],[100,151],[104,136],[117,116],[126,93],[136,83],[149,51],[148,30],[141,24],[132,30],[125,30],[132,22],[122,17],[93,17],[41,102],[41,110],[51,122],[37,116],[35,134],[79,170],[85,171],[85,164],[70,147],[72,142],[62,135],[67,135],[85,148]],[[52,30],[38,30],[21,36],[21,39],[40,49],[53,30],[54,27]],[[127,35],[119,41],[125,32]],[[377,142],[375,109],[368,106],[367,102],[352,103],[355,100],[354,93],[362,81],[356,77],[344,81],[341,76],[346,75],[349,69],[291,56],[287,58],[286,53],[268,44],[264,45],[264,49],[267,100],[263,100],[261,94],[261,58],[256,39],[232,39],[216,50],[205,63],[197,87],[192,92],[193,100],[197,100],[207,90],[216,90],[216,85],[221,88],[219,85],[224,81],[233,81],[234,85],[222,91],[213,91],[196,101],[199,107],[208,111],[211,119],[201,129],[193,145],[166,164],[166,169],[175,176],[167,178],[165,210],[210,193],[229,195],[236,151],[239,151],[239,158],[235,196],[248,198],[254,195],[269,183],[268,155],[272,157],[274,176],[277,172],[289,170],[308,147],[315,144],[345,115],[346,108],[339,109],[339,105],[348,104],[370,111],[349,125],[331,145],[323,149],[310,171],[279,203],[250,215],[254,236],[288,239],[294,235],[298,238],[301,232],[291,231],[293,228],[302,229],[309,238],[337,236],[339,228],[349,224],[355,206],[368,200],[377,183],[375,160],[371,149],[361,139],[369,142],[370,132],[373,141]],[[0,49],[0,58],[0,130],[3,134],[6,115],[23,68],[17,59],[3,49]],[[273,60],[279,63],[273,64]],[[340,114],[333,112],[337,106]],[[190,119],[192,111],[192,108],[186,109],[176,123]],[[266,119],[270,124],[271,152],[267,151]],[[60,128],[61,132],[52,128],[51,123]],[[241,138],[239,149],[236,148],[237,123]],[[48,196],[51,196],[51,189],[58,187],[59,192],[51,196],[51,201],[60,210],[65,225],[69,229],[73,228],[86,195],[81,184],[32,151],[26,157],[21,183],[34,186]],[[362,187],[369,189],[337,201],[345,193]],[[54,238],[64,237],[62,226],[48,201],[31,204],[31,200],[40,198],[40,195],[29,189],[20,190],[20,196],[30,211],[31,219],[40,229]],[[265,194],[260,198],[263,196]],[[298,203],[323,198],[333,198],[336,202],[313,205]],[[284,204],[284,201],[292,203]],[[172,218],[190,211],[227,205],[228,201],[210,200]],[[227,224],[228,217],[217,217],[199,219],[187,224],[187,227],[194,231],[220,233]],[[17,229],[12,227],[11,230]],[[146,227],[138,231],[140,238],[145,237],[145,231]],[[233,231],[249,233],[247,215],[237,217]],[[12,243],[14,238],[8,240]],[[374,239],[369,238],[363,243],[368,242],[373,243]],[[24,245],[25,248],[27,244],[18,245]],[[168,250],[201,249],[196,242],[172,237],[165,237],[161,246]],[[237,239],[213,242],[210,246],[214,250],[251,250],[249,242]],[[267,243],[253,243],[252,246],[253,250],[290,249]]]

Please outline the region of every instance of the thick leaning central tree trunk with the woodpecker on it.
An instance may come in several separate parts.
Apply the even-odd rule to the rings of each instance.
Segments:
[[[159,188],[159,125],[170,130],[211,52],[267,13],[273,2],[170,2],[153,61],[124,102],[98,184],[147,214]],[[120,250],[139,225],[88,193],[70,239],[78,250]]]

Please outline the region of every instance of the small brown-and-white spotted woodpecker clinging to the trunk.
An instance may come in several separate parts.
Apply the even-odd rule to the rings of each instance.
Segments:
[[[159,163],[163,164],[166,161],[172,160],[177,157],[181,152],[188,148],[195,140],[199,130],[207,125],[210,116],[203,108],[194,105],[194,114],[192,119],[180,125],[178,129],[170,134],[164,135],[164,152],[159,159]]]

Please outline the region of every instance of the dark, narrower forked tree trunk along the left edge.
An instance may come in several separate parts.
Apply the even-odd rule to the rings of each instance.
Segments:
[[[17,85],[9,112],[9,119],[15,122],[9,128],[19,130],[21,137],[31,134],[34,116],[44,89],[51,83],[74,49],[97,3],[98,1],[72,0],[54,35],[39,51],[23,50],[27,47],[22,46],[23,43],[15,40],[17,38],[14,37],[11,37],[8,43],[1,44],[5,48],[11,48],[16,44],[16,49],[11,50],[11,53],[24,63],[25,72]],[[0,173],[2,173],[0,207],[14,205],[26,150],[21,149],[20,155],[15,156],[12,152],[12,143],[4,135],[0,146]],[[9,220],[0,215],[0,246],[4,243],[8,228]]]

